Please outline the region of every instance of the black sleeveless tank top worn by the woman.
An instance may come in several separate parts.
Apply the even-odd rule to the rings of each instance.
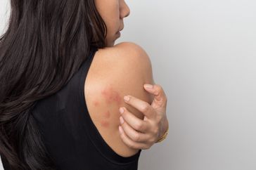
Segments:
[[[105,143],[87,110],[84,82],[95,52],[91,51],[60,91],[38,101],[32,116],[58,169],[136,170],[141,150],[130,157],[117,155]]]

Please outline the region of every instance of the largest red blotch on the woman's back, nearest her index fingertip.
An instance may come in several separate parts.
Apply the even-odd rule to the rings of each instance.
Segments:
[[[122,98],[117,91],[114,91],[112,87],[106,88],[101,91],[101,94],[105,97],[105,102],[110,103],[117,103],[117,105],[121,105]]]

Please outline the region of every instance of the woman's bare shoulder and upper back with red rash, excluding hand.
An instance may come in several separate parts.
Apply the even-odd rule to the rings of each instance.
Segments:
[[[127,107],[139,119],[143,114],[124,103],[125,95],[151,103],[153,96],[143,84],[154,84],[151,60],[141,46],[131,42],[103,48],[96,52],[84,84],[89,115],[105,142],[123,157],[138,150],[129,148],[120,138],[120,107]]]

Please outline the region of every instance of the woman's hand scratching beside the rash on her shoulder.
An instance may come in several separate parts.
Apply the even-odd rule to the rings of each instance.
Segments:
[[[127,108],[120,107],[124,121],[120,118],[119,130],[123,142],[130,148],[146,150],[164,135],[169,123],[166,116],[167,97],[162,87],[155,84],[152,88],[147,88],[145,84],[144,89],[154,95],[151,105],[134,96],[127,96],[129,98],[124,96],[124,101],[127,104],[144,114],[144,119],[141,120],[129,112]]]

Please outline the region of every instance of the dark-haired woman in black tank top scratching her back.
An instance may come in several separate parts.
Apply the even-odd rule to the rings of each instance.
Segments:
[[[124,0],[11,0],[0,44],[5,169],[137,169],[141,150],[166,136],[165,93],[143,86],[154,84],[148,55],[114,46],[128,15]]]

